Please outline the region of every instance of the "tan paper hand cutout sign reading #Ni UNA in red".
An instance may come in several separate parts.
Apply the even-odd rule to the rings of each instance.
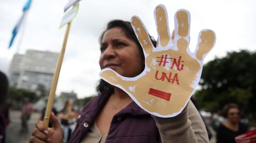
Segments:
[[[190,13],[175,13],[175,39],[171,40],[166,8],[154,10],[158,45],[154,47],[146,28],[137,17],[131,18],[134,32],[145,55],[145,69],[136,77],[123,77],[109,68],[100,77],[124,90],[146,112],[159,117],[177,116],[187,105],[199,83],[203,59],[215,44],[214,31],[199,32],[194,53],[189,49]],[[174,42],[174,43],[173,43]]]

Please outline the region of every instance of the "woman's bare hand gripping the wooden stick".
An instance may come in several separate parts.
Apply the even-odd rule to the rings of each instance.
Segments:
[[[50,122],[53,128],[47,128],[43,121],[37,121],[29,143],[63,143],[63,131],[57,117],[50,116]]]

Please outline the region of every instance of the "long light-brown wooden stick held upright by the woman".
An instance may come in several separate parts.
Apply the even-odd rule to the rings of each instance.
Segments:
[[[59,79],[59,75],[60,75],[60,71],[61,71],[61,65],[62,65],[63,57],[65,54],[68,37],[69,37],[69,30],[70,30],[71,22],[68,23],[64,41],[62,44],[61,53],[59,55],[57,66],[56,66],[56,69],[55,69],[55,72],[53,75],[53,81],[52,81],[52,85],[51,85],[51,89],[50,89],[50,93],[49,93],[49,97],[48,97],[48,102],[47,102],[47,106],[46,106],[46,111],[45,111],[45,117],[44,117],[44,121],[43,121],[46,127],[48,127],[48,125],[49,125],[50,115],[51,115],[51,112],[53,109],[55,92],[56,92],[56,88],[57,88],[57,83],[58,83],[58,79]]]

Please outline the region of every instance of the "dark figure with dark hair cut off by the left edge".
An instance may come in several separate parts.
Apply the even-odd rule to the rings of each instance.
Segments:
[[[6,116],[4,106],[8,95],[9,85],[8,78],[0,71],[0,143],[5,143]]]

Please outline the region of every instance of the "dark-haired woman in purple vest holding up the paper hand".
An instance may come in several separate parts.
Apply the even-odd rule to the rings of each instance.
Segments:
[[[172,37],[174,39],[174,37]],[[156,42],[151,39],[154,46]],[[108,23],[100,37],[101,69],[111,68],[125,77],[135,77],[144,69],[142,47],[129,22]],[[69,143],[166,143],[209,142],[207,131],[194,104],[189,102],[181,114],[159,118],[145,112],[121,89],[101,80],[99,95],[86,104],[78,116]],[[53,128],[37,122],[30,142],[61,143],[61,128],[53,114]]]

